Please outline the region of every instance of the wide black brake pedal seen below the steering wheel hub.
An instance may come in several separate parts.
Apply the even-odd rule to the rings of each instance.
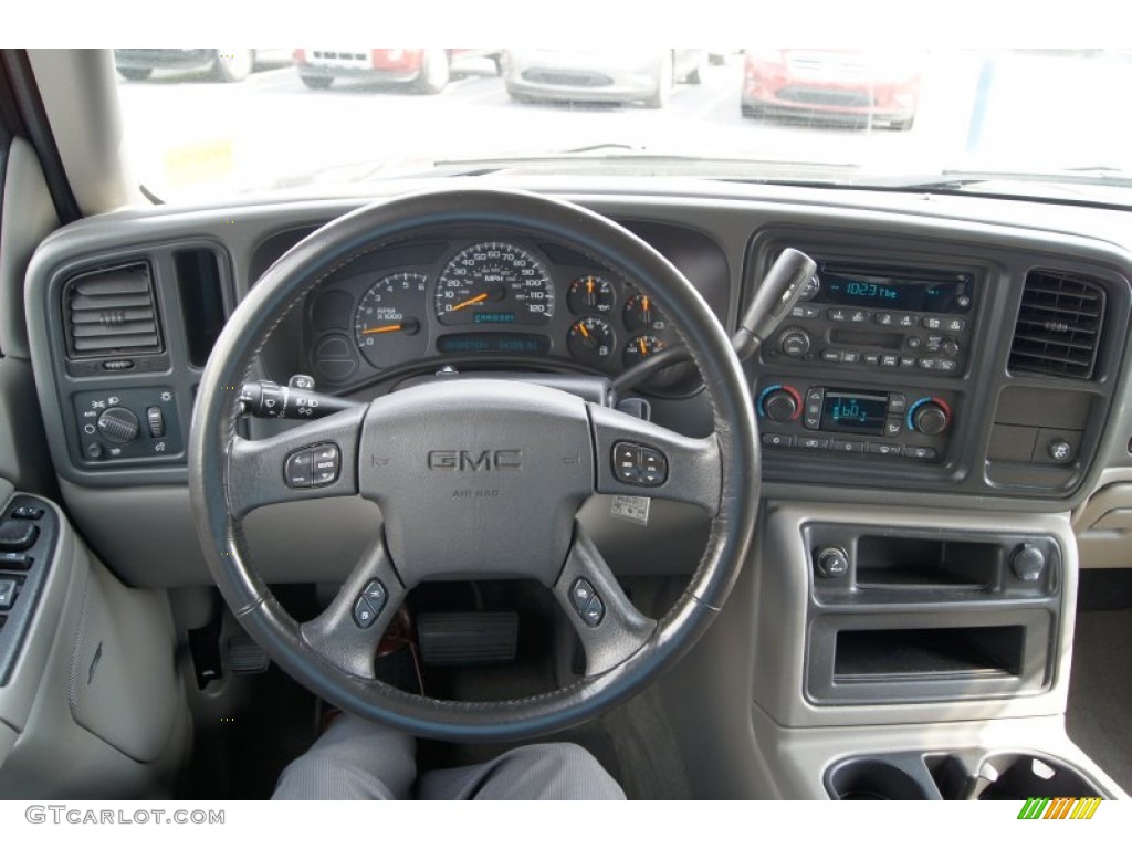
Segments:
[[[418,614],[417,640],[428,666],[506,663],[515,659],[518,614]]]

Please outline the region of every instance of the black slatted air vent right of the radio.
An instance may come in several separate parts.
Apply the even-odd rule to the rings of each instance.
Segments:
[[[1088,380],[1097,360],[1105,290],[1077,274],[1031,271],[1010,349],[1011,371]]]

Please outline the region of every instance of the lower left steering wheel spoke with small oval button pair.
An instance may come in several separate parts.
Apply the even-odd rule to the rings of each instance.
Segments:
[[[396,616],[406,590],[393,567],[385,540],[378,539],[316,618],[302,623],[302,640],[338,669],[374,677],[374,658],[381,636]]]

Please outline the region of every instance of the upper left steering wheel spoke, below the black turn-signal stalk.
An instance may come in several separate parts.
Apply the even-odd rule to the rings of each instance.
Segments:
[[[228,508],[240,518],[257,507],[358,494],[358,443],[366,408],[344,410],[266,439],[232,437]]]

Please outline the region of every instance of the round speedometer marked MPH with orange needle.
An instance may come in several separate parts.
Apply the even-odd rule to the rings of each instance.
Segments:
[[[440,274],[435,300],[444,325],[537,325],[555,315],[555,288],[546,268],[507,242],[480,242],[460,251]]]

